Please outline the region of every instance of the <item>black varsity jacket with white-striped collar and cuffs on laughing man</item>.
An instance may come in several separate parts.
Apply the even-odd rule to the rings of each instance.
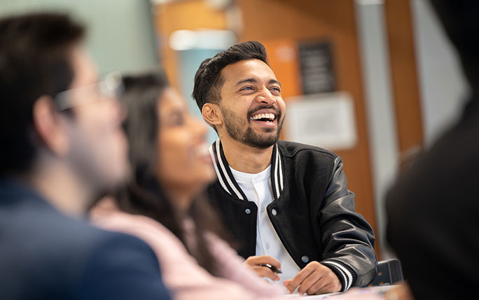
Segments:
[[[218,176],[208,188],[211,204],[240,242],[238,253],[244,258],[255,255],[258,207],[236,183],[219,140],[209,152]],[[375,236],[355,212],[342,159],[322,148],[278,141],[270,177],[274,199],[268,216],[294,262],[301,269],[312,261],[328,266],[340,278],[343,291],[368,285],[377,266]]]

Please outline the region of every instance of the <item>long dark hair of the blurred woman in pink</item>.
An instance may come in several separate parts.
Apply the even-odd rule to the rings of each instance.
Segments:
[[[118,191],[116,201],[120,210],[127,213],[146,215],[157,220],[172,231],[190,255],[209,273],[216,275],[215,260],[205,241],[204,234],[218,228],[218,219],[212,213],[205,197],[193,201],[189,214],[195,222],[196,244],[186,242],[183,220],[174,209],[172,199],[168,199],[164,188],[155,176],[158,149],[158,104],[169,84],[164,73],[146,73],[139,76],[127,76],[123,79],[125,94],[121,101],[128,110],[124,123],[130,146],[129,158],[132,166],[132,178],[125,188]]]

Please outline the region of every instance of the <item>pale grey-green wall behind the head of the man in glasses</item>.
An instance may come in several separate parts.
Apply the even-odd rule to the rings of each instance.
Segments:
[[[70,13],[85,24],[100,73],[158,66],[148,0],[0,0],[0,17],[44,10]]]

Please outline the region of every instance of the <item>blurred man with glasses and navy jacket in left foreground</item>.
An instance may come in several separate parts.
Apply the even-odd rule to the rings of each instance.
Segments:
[[[127,174],[116,80],[65,15],[0,20],[2,299],[169,299],[146,244],[83,219]]]

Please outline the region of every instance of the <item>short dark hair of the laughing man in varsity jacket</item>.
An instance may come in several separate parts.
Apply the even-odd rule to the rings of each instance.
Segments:
[[[193,99],[200,110],[204,103],[219,103],[220,91],[224,83],[224,79],[221,78],[221,70],[228,64],[247,59],[259,59],[268,64],[265,46],[260,42],[248,41],[232,45],[214,57],[204,59],[196,71],[195,87],[193,87]]]

